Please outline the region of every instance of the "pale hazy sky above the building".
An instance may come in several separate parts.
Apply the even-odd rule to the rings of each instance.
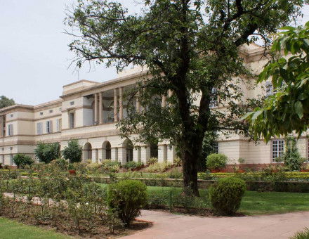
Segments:
[[[64,34],[66,6],[74,0],[0,0],[0,96],[37,105],[61,96],[63,85],[79,79],[105,82],[117,77],[114,67],[69,67],[74,54]],[[137,11],[135,0],[120,0]],[[303,9],[302,24],[309,20]]]

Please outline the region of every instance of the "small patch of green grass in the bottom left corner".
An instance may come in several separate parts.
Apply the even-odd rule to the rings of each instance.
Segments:
[[[18,221],[0,217],[0,238],[1,239],[69,239],[67,235],[44,230],[37,226],[28,226]]]

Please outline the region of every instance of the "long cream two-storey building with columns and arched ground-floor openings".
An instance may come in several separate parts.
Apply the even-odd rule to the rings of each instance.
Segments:
[[[266,63],[263,48],[256,44],[246,46],[241,53],[245,63],[256,72],[261,71]],[[169,142],[133,147],[129,139],[119,136],[116,127],[117,122],[126,117],[124,91],[134,87],[145,74],[140,68],[134,68],[103,83],[80,80],[63,86],[63,95],[55,101],[0,109],[0,162],[12,165],[13,155],[17,153],[34,155],[39,141],[60,142],[61,148],[64,148],[71,139],[77,139],[83,147],[84,160],[100,162],[110,158],[125,163],[130,160],[145,162],[149,157],[158,157],[161,162],[173,162],[176,152]],[[269,83],[256,87],[242,84],[241,88],[244,100],[273,93]],[[165,98],[162,98],[163,104],[164,101]],[[136,99],[133,103],[136,110],[140,110]],[[218,107],[216,100],[212,107]],[[298,140],[298,149],[302,157],[308,158],[308,138],[303,136]],[[266,145],[263,141],[256,144],[244,136],[221,136],[214,143],[213,150],[228,155],[230,164],[237,163],[237,159],[242,157],[246,159],[245,164],[258,166],[275,162],[275,157],[284,151],[284,140],[276,138]]]

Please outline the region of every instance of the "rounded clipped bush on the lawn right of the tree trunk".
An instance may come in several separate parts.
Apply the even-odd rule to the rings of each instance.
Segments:
[[[219,179],[209,188],[211,205],[225,215],[235,214],[246,190],[246,182],[235,177]]]

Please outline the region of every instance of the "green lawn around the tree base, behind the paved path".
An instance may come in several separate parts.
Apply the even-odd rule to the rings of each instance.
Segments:
[[[150,200],[157,199],[157,201],[161,202],[163,205],[168,206],[170,191],[172,191],[173,200],[177,200],[182,189],[147,186],[147,191]],[[207,191],[205,189],[200,189],[199,194],[200,198],[192,202],[192,205],[210,207]],[[309,193],[258,193],[246,191],[239,208],[239,212],[246,215],[280,214],[305,210],[309,210]]]

